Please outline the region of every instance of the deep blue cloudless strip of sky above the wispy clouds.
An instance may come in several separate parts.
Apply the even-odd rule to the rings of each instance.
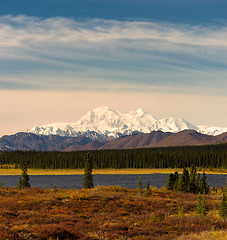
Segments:
[[[226,0],[1,0],[1,15],[218,23]]]

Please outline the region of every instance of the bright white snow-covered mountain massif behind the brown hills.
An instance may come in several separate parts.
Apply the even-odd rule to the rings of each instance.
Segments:
[[[227,132],[227,128],[197,127],[183,118],[156,119],[141,108],[129,113],[120,113],[106,106],[89,111],[75,123],[51,123],[35,126],[28,132],[37,135],[60,135],[77,137],[86,134],[91,139],[106,140],[133,133],[150,133],[152,131],[179,132],[193,129],[198,132],[218,135]]]

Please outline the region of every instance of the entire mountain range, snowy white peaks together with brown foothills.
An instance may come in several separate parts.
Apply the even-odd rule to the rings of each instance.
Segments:
[[[76,123],[35,126],[0,138],[0,150],[80,151],[216,144],[227,128],[194,126],[183,118],[157,120],[142,109],[120,113],[108,107],[89,111]]]

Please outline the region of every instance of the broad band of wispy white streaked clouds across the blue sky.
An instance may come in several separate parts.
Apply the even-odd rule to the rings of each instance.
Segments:
[[[0,88],[5,81],[43,89],[142,83],[220,94],[227,88],[226,39],[227,25],[2,16]]]

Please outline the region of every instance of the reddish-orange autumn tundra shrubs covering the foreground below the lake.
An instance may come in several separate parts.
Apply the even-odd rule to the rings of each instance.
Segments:
[[[221,194],[209,194],[208,214],[201,216],[196,213],[197,195],[190,193],[153,188],[146,196],[144,190],[138,194],[120,186],[92,190],[4,188],[0,190],[0,239],[222,237],[227,222],[218,215],[220,202]],[[192,234],[195,232],[198,238]]]

